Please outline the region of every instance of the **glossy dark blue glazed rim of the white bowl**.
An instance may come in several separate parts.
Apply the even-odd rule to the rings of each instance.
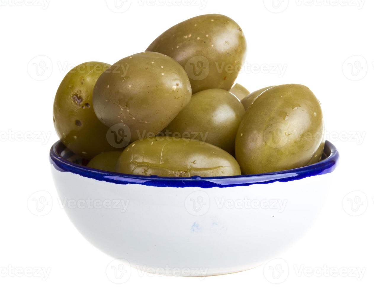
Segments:
[[[61,172],[71,172],[87,178],[93,178],[99,181],[106,181],[117,184],[142,184],[158,187],[232,187],[248,186],[259,183],[272,183],[276,181],[288,182],[296,179],[303,179],[310,176],[323,175],[331,173],[337,166],[339,153],[331,142],[326,141],[324,154],[326,158],[318,163],[299,167],[295,169],[269,172],[255,175],[237,175],[237,176],[217,176],[217,177],[162,177],[162,176],[143,176],[124,173],[108,172],[89,168],[83,165],[73,163],[61,156],[65,146],[61,141],[56,142],[50,148],[49,160],[55,169]]]

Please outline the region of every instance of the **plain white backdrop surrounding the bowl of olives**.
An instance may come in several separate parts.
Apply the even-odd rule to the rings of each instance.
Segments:
[[[120,9],[106,2],[0,0],[0,289],[373,289],[373,1],[128,0]],[[246,35],[239,83],[250,91],[301,83],[320,99],[328,139],[341,154],[334,186],[315,226],[275,257],[283,260],[206,278],[135,269],[114,284],[105,273],[113,259],[77,232],[58,203],[48,161],[56,89],[74,66],[114,63],[207,13],[233,18]],[[37,191],[53,200],[45,216],[27,206]],[[353,210],[349,198],[358,202]],[[277,264],[278,280],[264,275]]]

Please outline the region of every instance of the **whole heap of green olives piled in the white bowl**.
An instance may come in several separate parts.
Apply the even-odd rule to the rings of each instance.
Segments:
[[[68,72],[53,104],[56,132],[89,167],[137,175],[247,175],[321,160],[318,99],[300,84],[234,85],[245,54],[232,19],[188,19],[145,52]]]

